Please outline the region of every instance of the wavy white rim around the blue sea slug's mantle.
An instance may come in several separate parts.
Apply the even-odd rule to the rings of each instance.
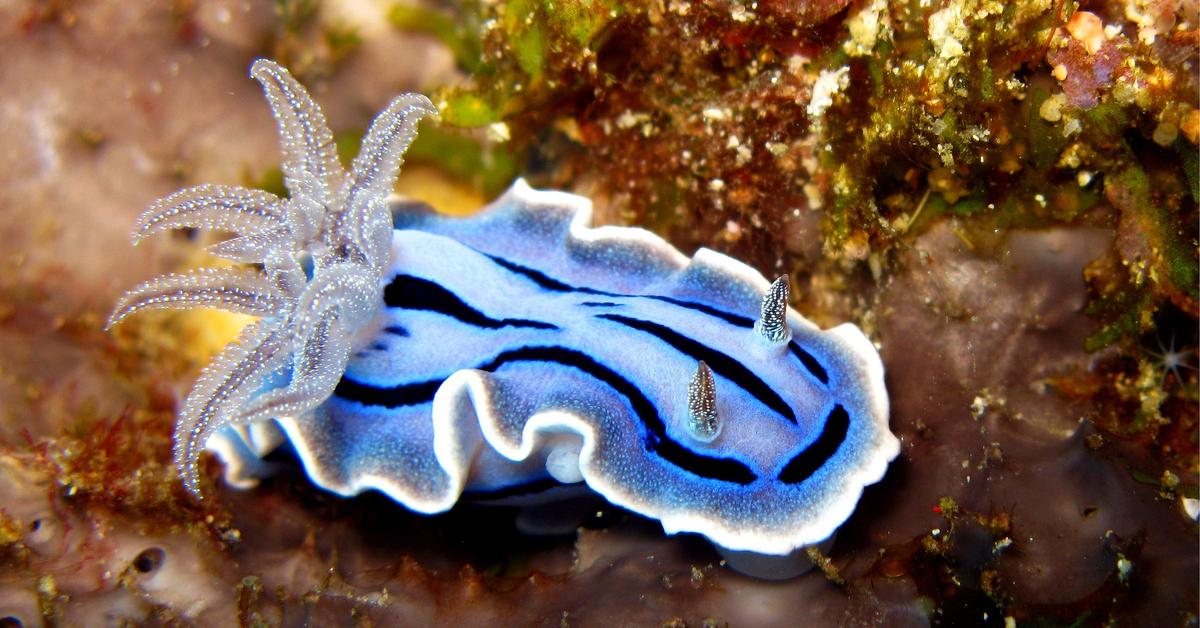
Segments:
[[[559,208],[559,210],[570,214],[569,238],[564,243],[568,249],[599,244],[636,249],[641,255],[653,252],[662,261],[665,270],[670,269],[665,275],[658,277],[659,280],[668,279],[667,275],[682,276],[692,265],[702,264],[707,270],[715,269],[731,285],[749,286],[750,292],[758,295],[756,298],[761,298],[769,287],[767,279],[752,268],[715,251],[701,249],[692,258],[688,258],[665,240],[644,229],[613,226],[592,227],[592,203],[588,199],[566,192],[536,191],[523,180],[517,180],[505,195],[480,215],[456,220],[486,217],[488,213],[502,211],[506,208],[529,210],[539,207]],[[536,209],[534,210],[536,211]],[[660,281],[652,283],[660,285]],[[622,485],[604,472],[601,462],[607,456],[596,447],[599,427],[593,417],[566,411],[544,411],[524,420],[520,436],[514,437],[514,435],[506,433],[503,429],[504,421],[497,415],[496,403],[492,399],[493,391],[490,385],[492,376],[476,370],[455,372],[442,384],[433,399],[434,455],[449,480],[448,489],[437,495],[415,492],[395,479],[376,474],[359,473],[352,476],[349,482],[337,480],[318,462],[301,426],[301,421],[306,420],[305,417],[276,419],[283,431],[277,437],[266,437],[264,432],[259,432],[257,438],[247,439],[246,436],[250,436],[247,431],[240,432],[244,436],[236,437],[234,435],[239,432],[227,431],[214,437],[209,442],[209,447],[226,461],[227,480],[234,485],[247,485],[252,483],[253,476],[260,473],[263,468],[260,462],[246,456],[262,455],[265,453],[264,448],[269,450],[278,444],[282,437],[286,437],[295,447],[312,480],[326,490],[343,496],[353,496],[374,489],[413,510],[440,513],[449,510],[458,501],[467,483],[475,447],[480,444],[480,433],[486,443],[485,447],[491,447],[504,457],[520,462],[540,451],[546,436],[569,432],[576,435],[581,441],[578,460],[583,482],[610,502],[660,520],[664,530],[671,534],[694,532],[731,550],[786,555],[798,548],[820,543],[833,534],[834,530],[854,510],[864,488],[882,479],[888,463],[896,457],[900,450],[899,441],[888,429],[888,397],[884,388],[883,365],[875,347],[862,331],[852,324],[842,324],[828,331],[821,331],[791,307],[787,311],[787,322],[794,335],[814,339],[822,345],[835,348],[834,352],[827,353],[839,355],[842,364],[836,365],[833,370],[834,378],[830,381],[830,387],[838,389],[841,385],[848,390],[857,389],[859,391],[854,395],[857,399],[847,399],[845,402],[854,409],[852,415],[858,419],[856,421],[857,429],[869,432],[859,435],[858,438],[868,442],[869,447],[850,453],[839,450],[836,456],[842,459],[839,461],[839,466],[845,467],[845,471],[830,478],[832,471],[823,469],[824,473],[805,480],[805,484],[823,482],[824,490],[799,491],[791,500],[793,506],[791,513],[775,508],[781,515],[775,518],[779,520],[775,525],[748,525],[746,521],[731,521],[716,516],[706,509],[679,508],[677,504],[648,497],[649,491],[640,494],[634,488]],[[469,408],[470,412],[461,412],[461,408],[464,407]],[[240,443],[234,442],[233,438]],[[847,442],[850,441],[847,439]],[[250,445],[252,442],[257,442],[257,447]],[[847,460],[851,456],[853,460]],[[760,482],[775,480],[761,479]],[[817,496],[816,500],[814,500],[814,492]],[[774,504],[762,506],[764,510],[774,508]]]

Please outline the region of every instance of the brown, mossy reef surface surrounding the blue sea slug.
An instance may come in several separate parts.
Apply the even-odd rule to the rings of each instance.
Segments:
[[[1194,5],[29,1],[0,42],[0,624],[1196,621]],[[197,265],[186,234],[130,253],[151,199],[281,181],[260,55],[340,146],[443,86],[461,130],[406,193],[522,172],[857,321],[902,450],[822,572],[758,582],[602,504],[536,538],[212,466],[191,501],[170,425],[236,324],[102,313]]]

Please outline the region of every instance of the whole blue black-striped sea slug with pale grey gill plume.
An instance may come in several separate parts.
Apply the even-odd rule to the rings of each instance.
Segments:
[[[883,366],[852,324],[821,330],[786,279],[517,180],[470,217],[389,199],[421,118],[403,95],[349,172],[283,67],[254,62],[288,198],[200,185],[155,203],[133,240],[233,232],[244,269],[162,276],[110,324],[158,307],[258,317],[203,371],[175,431],[198,495],[204,448],[253,483],[284,442],[340,495],[376,489],[420,513],[463,496],[581,485],[721,548],[786,555],[828,538],[899,453]]]

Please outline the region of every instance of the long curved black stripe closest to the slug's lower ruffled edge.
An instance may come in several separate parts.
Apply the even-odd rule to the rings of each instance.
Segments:
[[[600,381],[617,394],[625,397],[634,408],[634,413],[642,421],[647,431],[646,448],[654,451],[667,462],[700,476],[736,484],[750,484],[758,477],[744,463],[727,457],[712,457],[697,454],[683,444],[673,441],[666,430],[666,424],[659,415],[658,408],[646,397],[636,385],[620,373],[598,363],[583,352],[565,347],[521,347],[500,353],[492,361],[478,366],[481,371],[496,371],[500,366],[517,361],[547,361],[559,364],[583,371],[590,377]],[[348,401],[356,401],[368,406],[383,406],[396,408],[401,406],[415,406],[427,403],[433,400],[433,394],[442,385],[443,379],[430,379],[410,384],[380,388],[371,384],[355,382],[343,377],[337,384],[335,394]]]

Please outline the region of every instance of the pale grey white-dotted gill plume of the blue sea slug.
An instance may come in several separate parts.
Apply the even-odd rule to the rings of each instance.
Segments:
[[[278,121],[289,197],[236,186],[188,187],[154,203],[137,221],[133,243],[179,227],[228,231],[238,237],[212,252],[262,264],[262,270],[198,269],[157,277],[126,293],[109,319],[116,324],[133,312],[164,307],[260,317],[204,370],[179,417],[175,463],[197,495],[197,459],[217,430],[302,414],[332,393],[352,337],[378,307],[390,251],[386,196],[400,157],[418,121],[437,115],[425,96],[397,97],[346,172],[307,90],[274,61],[259,59],[250,73]],[[312,257],[311,277],[301,270],[305,256]]]

